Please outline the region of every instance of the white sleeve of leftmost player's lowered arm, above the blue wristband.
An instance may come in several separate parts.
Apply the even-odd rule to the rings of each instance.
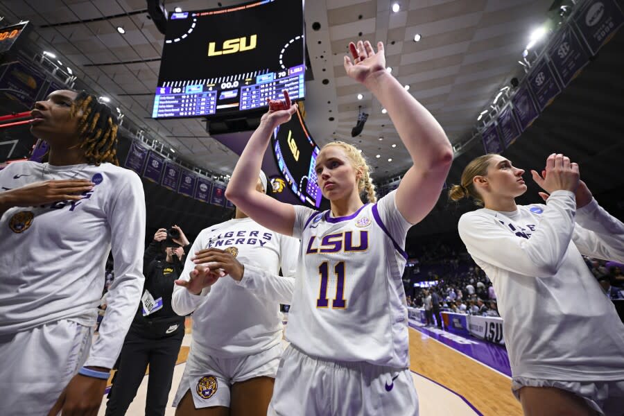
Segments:
[[[130,175],[125,187],[116,193],[107,220],[115,279],[107,295],[107,308],[100,325],[100,336],[89,352],[85,365],[112,368],[125,333],[128,332],[143,291],[143,250],[145,241],[145,195],[139,176]]]

